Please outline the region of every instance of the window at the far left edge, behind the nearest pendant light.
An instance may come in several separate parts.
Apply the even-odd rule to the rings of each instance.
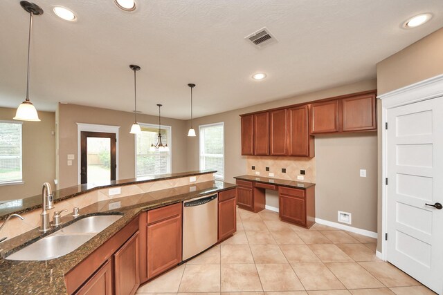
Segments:
[[[21,122],[0,121],[0,184],[21,181]]]

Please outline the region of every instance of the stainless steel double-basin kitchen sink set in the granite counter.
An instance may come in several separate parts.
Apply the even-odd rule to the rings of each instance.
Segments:
[[[121,215],[100,215],[79,219],[55,233],[10,254],[7,260],[49,260],[71,253],[109,227]]]

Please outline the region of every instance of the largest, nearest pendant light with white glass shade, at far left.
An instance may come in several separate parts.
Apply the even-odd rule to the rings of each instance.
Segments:
[[[39,115],[32,102],[29,100],[29,67],[30,67],[30,36],[33,28],[33,16],[43,15],[43,10],[35,3],[20,1],[21,7],[29,13],[29,36],[28,36],[28,75],[26,76],[26,99],[17,108],[14,120],[39,122]]]

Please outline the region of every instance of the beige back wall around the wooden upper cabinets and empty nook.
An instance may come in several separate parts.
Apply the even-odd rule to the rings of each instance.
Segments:
[[[225,128],[225,181],[234,182],[235,175],[247,174],[246,156],[240,155],[240,118],[242,113],[260,111],[267,108],[287,106],[309,102],[359,91],[368,91],[377,88],[375,80],[358,82],[346,86],[330,88],[323,91],[298,95],[287,99],[280,99],[266,104],[259,104],[217,115],[200,117],[194,120],[198,133],[198,126],[224,122]],[[190,122],[188,122],[188,128]],[[346,149],[337,149],[336,146],[347,145]],[[348,160],[352,155],[352,161]],[[293,158],[297,161],[297,158]],[[352,214],[355,223],[352,226],[377,230],[377,135],[372,133],[354,133],[352,135],[334,135],[316,139],[316,214],[318,218],[337,221],[336,208],[347,210]],[[339,163],[339,167],[337,164]],[[199,169],[198,137],[188,138],[188,169]],[[339,169],[340,173],[336,173]],[[359,169],[368,170],[368,178],[358,179]],[[320,173],[320,174],[319,174]],[[320,178],[319,178],[320,175]],[[364,189],[361,189],[363,187]],[[345,197],[343,196],[345,193]],[[349,202],[351,200],[351,202]],[[335,202],[334,210],[327,208]],[[362,213],[362,207],[371,204]]]

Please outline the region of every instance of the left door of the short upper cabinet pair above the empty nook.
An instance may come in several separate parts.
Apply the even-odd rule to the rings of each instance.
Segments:
[[[338,99],[311,104],[311,133],[338,132]]]

